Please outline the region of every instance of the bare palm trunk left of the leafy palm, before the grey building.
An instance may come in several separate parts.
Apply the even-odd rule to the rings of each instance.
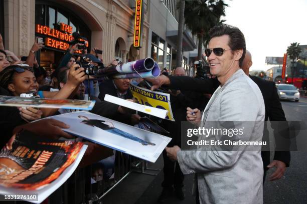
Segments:
[[[178,38],[177,38],[177,58],[176,67],[181,66],[182,63],[182,39],[183,39],[183,28],[184,28],[184,10],[185,0],[179,2],[179,22],[178,22]]]

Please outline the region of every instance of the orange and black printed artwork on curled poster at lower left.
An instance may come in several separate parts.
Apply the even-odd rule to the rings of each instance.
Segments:
[[[0,152],[0,185],[36,190],[59,177],[78,156],[83,142],[39,141],[19,135],[13,148]]]

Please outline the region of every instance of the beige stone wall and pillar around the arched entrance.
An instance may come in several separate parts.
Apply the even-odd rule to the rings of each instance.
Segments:
[[[124,40],[121,48],[129,52],[133,42],[134,10],[133,0],[52,0],[73,10],[92,30],[91,47],[103,50],[104,63],[108,63],[115,53],[118,37]],[[35,0],[4,0],[5,48],[17,55],[28,55],[35,39]],[[136,58],[147,56],[148,22],[143,26],[143,47]]]

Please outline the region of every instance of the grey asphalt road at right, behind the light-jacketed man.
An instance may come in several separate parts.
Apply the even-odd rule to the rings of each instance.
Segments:
[[[306,121],[307,98],[301,97],[298,102],[281,101],[281,104],[288,121]],[[265,181],[264,203],[307,203],[306,189],[307,152],[291,151],[290,167],[284,176],[277,181]]]

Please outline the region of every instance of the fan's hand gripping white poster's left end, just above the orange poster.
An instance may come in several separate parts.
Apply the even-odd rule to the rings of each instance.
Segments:
[[[69,125],[56,119],[41,119],[39,121],[17,126],[14,128],[13,136],[7,142],[6,147],[7,149],[12,149],[16,134],[23,129],[51,139],[58,139],[60,137],[74,138],[74,136],[63,131],[62,128],[69,128]]]

